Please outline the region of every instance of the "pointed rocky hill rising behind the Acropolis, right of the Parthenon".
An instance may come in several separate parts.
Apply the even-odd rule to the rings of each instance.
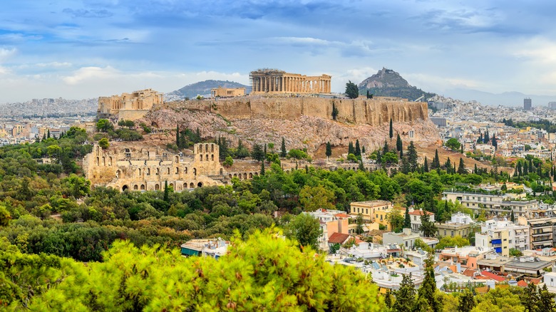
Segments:
[[[423,94],[425,100],[435,95],[435,93],[428,93],[409,85],[407,80],[403,79],[399,73],[387,68],[382,68],[378,73],[359,83],[360,95],[366,95],[367,90],[376,96],[396,96],[409,100],[416,100]]]

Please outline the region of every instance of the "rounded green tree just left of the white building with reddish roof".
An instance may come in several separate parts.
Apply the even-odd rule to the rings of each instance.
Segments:
[[[298,214],[285,229],[285,234],[289,239],[299,241],[301,246],[310,246],[312,249],[319,249],[318,241],[322,234],[319,220],[310,214]]]

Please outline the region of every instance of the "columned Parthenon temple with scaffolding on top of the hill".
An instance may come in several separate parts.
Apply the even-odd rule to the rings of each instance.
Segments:
[[[258,69],[249,74],[252,94],[262,93],[330,93],[331,76],[305,76],[277,69]]]

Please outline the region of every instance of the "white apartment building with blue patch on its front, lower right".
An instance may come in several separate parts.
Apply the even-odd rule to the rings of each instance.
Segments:
[[[521,251],[529,249],[530,227],[525,218],[520,219],[520,224],[514,224],[506,219],[488,220],[480,230],[480,234],[475,234],[475,246],[483,249],[492,248],[503,256],[510,256],[512,248]]]

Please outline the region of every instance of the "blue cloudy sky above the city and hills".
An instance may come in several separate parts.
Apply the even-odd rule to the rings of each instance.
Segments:
[[[0,103],[96,98],[278,68],[332,91],[411,85],[556,95],[556,1],[17,0],[0,10]]]

